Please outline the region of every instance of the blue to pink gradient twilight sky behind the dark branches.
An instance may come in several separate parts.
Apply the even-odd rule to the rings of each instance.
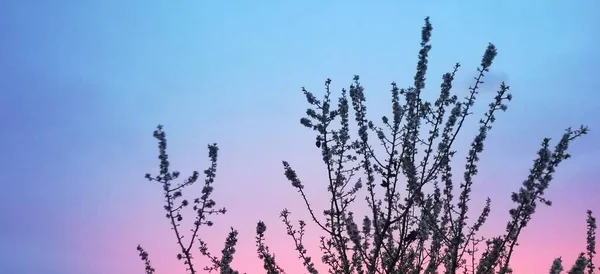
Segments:
[[[426,16],[434,27],[426,93],[461,62],[454,92],[466,94],[493,42],[498,56],[475,111],[501,81],[514,95],[473,187],[475,212],[492,199],[484,235],[503,232],[510,193],[542,138],[591,128],[513,259],[516,273],[547,273],[558,256],[570,266],[585,250],[585,210],[600,217],[598,10],[595,0],[1,1],[0,273],[143,273],[138,244],[158,273],[185,273],[161,187],[143,178],[158,172],[158,124],[182,175],[206,168],[206,145],[219,144],[214,198],[228,213],[201,230],[211,250],[235,227],[235,266],[263,273],[254,246],[263,220],[281,264],[304,273],[278,220],[283,208],[307,217],[281,160],[315,206],[327,202],[320,152],[299,124],[308,107],[301,87],[322,94],[329,77],[339,91],[359,74],[369,117],[389,113],[389,83],[412,83]],[[458,148],[472,140],[470,125]],[[317,227],[307,234],[316,239]],[[316,241],[307,248],[320,256]]]

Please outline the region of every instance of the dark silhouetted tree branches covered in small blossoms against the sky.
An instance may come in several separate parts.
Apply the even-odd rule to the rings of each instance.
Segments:
[[[460,68],[457,63],[451,72],[443,75],[437,100],[428,102],[422,99],[421,93],[425,88],[432,29],[426,18],[413,86],[399,88],[396,83],[391,84],[392,113],[382,117],[381,123],[367,118],[365,92],[359,76],[354,76],[349,89],[342,89],[337,102],[331,99],[330,79],[325,81],[322,99],[302,88],[310,108],[300,122],[316,132],[315,146],[321,151],[328,174],[330,207],[324,211],[324,216],[317,216],[317,210],[311,206],[310,197],[291,164],[283,161],[283,169],[285,177],[302,197],[312,223],[327,235],[320,239],[320,249],[321,260],[328,266],[329,273],[512,273],[510,260],[520,233],[538,204],[551,205],[544,193],[557,167],[570,157],[567,150],[571,142],[588,131],[584,126],[576,130],[568,128],[554,147],[551,147],[550,138],[543,139],[529,176],[520,189],[512,193],[514,207],[509,211],[511,220],[506,225],[506,232],[489,239],[478,236],[477,232],[490,212],[491,201],[487,199],[474,222],[467,222],[471,187],[478,173],[485,140],[496,116],[507,110],[512,95],[509,86],[502,83],[479,120],[479,131],[468,150],[465,171],[457,188],[451,165],[456,153],[453,145],[465,120],[473,114],[480,85],[497,50],[493,44],[488,45],[466,98],[450,93]],[[351,114],[358,128],[356,138],[351,136]],[[370,134],[374,134],[375,139]],[[192,203],[181,198],[182,191],[198,180],[199,173],[194,172],[187,180],[173,185],[172,181],[179,173],[169,169],[162,126],[154,132],[154,137],[159,142],[160,174],[154,177],[147,174],[146,178],[163,186],[166,217],[181,249],[178,258],[184,261],[189,273],[197,273],[192,262],[192,247],[198,240],[200,254],[208,257],[212,264],[205,270],[238,273],[230,266],[237,242],[236,230],[232,228],[229,233],[220,257],[209,253],[197,234],[200,226],[212,225],[208,220],[210,215],[225,213],[224,208],[215,209],[216,203],[210,198],[217,167],[217,145],[208,146],[211,164],[204,172],[202,196],[192,202],[196,219],[191,239],[183,242],[179,230],[183,219],[181,212]],[[349,205],[356,202],[363,184],[366,185],[365,199],[370,213],[362,218],[359,226]],[[427,192],[427,188],[432,191]],[[318,273],[303,244],[307,223],[301,220],[299,228],[294,228],[286,209],[280,217],[306,270],[311,274]],[[596,221],[588,211],[587,253],[581,253],[569,273],[584,273],[587,269],[588,274],[593,274],[595,229]],[[265,244],[265,232],[266,225],[258,222],[258,257],[263,261],[266,273],[285,273]],[[478,253],[480,246],[484,249]],[[154,273],[146,251],[140,246],[138,250],[146,264],[146,273]],[[562,270],[562,259],[557,258],[550,273]]]

